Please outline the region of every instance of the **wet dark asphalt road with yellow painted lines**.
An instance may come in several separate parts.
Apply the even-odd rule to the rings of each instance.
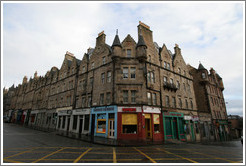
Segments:
[[[3,163],[242,163],[240,141],[110,147],[37,131],[3,126]]]

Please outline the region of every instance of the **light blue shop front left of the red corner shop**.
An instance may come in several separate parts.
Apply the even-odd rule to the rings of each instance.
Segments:
[[[91,108],[90,133],[117,139],[117,106]]]

